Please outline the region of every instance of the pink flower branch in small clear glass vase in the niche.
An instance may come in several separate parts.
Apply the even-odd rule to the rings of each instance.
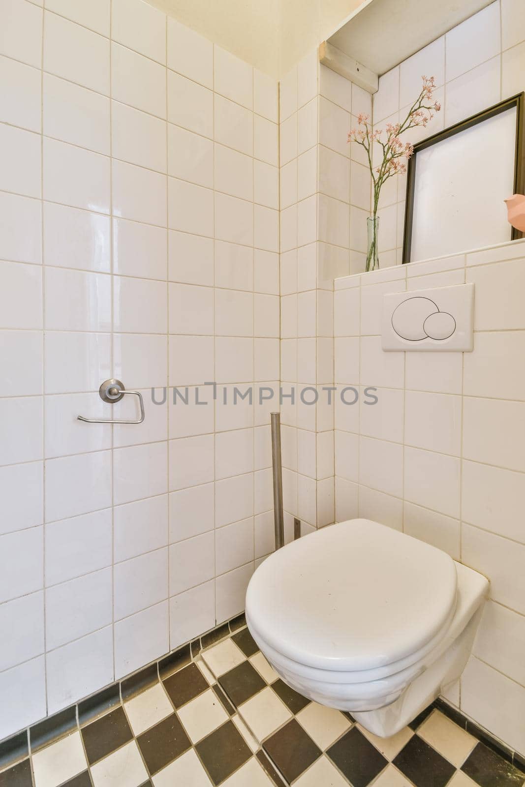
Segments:
[[[423,87],[416,101],[409,109],[409,113],[401,123],[386,124],[386,137],[383,137],[383,129],[372,128],[370,116],[360,113],[357,116],[357,123],[360,128],[353,128],[348,135],[348,142],[357,142],[367,153],[368,167],[374,184],[374,201],[372,218],[374,220],[374,236],[372,247],[368,249],[366,270],[370,268],[370,261],[375,258],[377,249],[377,209],[379,205],[379,194],[386,180],[394,175],[406,172],[406,161],[412,156],[414,146],[410,142],[402,142],[401,134],[418,126],[427,127],[434,117],[434,113],[439,112],[441,104],[437,101],[432,102],[436,88],[434,76],[423,76]],[[383,150],[383,161],[379,166],[372,164],[372,147],[376,142]]]

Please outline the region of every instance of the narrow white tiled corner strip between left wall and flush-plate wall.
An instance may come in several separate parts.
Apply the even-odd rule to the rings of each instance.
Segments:
[[[370,207],[368,171],[346,142],[353,106],[370,112],[372,98],[319,65],[316,50],[280,83],[281,380],[295,396],[282,406],[289,538],[295,515],[305,532],[336,517],[333,283],[364,266],[356,227]]]

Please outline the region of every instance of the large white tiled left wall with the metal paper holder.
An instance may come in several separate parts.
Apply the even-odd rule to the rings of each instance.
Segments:
[[[242,611],[273,549],[268,412],[202,384],[279,379],[279,151],[277,83],[140,0],[0,17],[3,738]],[[76,420],[136,417],[112,376],[142,425]]]

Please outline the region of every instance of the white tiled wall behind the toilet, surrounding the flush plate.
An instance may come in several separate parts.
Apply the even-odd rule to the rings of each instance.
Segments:
[[[383,353],[383,294],[475,284],[472,353]],[[473,656],[447,699],[525,752],[525,242],[335,282],[335,516],[403,530],[490,578]],[[350,412],[349,412],[350,411]]]

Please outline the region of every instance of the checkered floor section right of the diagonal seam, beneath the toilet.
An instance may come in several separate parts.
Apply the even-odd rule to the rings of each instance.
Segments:
[[[290,689],[248,629],[202,653],[209,671],[294,787],[522,787],[525,774],[437,709],[390,738]]]

